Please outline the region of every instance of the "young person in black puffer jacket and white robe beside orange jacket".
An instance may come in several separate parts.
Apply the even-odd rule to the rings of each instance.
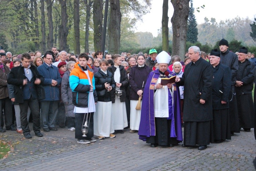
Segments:
[[[115,138],[115,135],[112,134],[114,133],[114,126],[111,102],[111,91],[114,91],[115,81],[113,74],[107,70],[107,67],[107,60],[101,59],[100,70],[94,74],[98,103],[93,116],[93,130],[98,139]]]

